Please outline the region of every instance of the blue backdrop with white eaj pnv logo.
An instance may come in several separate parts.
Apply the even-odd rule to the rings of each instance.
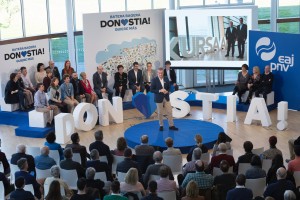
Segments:
[[[275,103],[287,101],[300,110],[300,34],[249,31],[249,72],[270,65]]]

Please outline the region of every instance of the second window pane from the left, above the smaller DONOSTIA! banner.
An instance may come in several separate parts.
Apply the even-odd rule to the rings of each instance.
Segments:
[[[46,0],[26,0],[23,4],[26,37],[48,34]]]

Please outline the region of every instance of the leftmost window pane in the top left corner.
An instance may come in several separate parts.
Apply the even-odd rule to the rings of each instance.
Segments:
[[[1,1],[0,13],[1,40],[22,37],[23,31],[20,1]]]

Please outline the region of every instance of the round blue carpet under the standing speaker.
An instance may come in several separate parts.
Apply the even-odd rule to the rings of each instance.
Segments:
[[[165,138],[171,137],[174,140],[174,147],[179,148],[182,153],[188,153],[189,149],[195,145],[194,136],[201,134],[203,144],[212,148],[218,138],[218,134],[223,130],[222,127],[206,121],[191,119],[175,119],[174,124],[179,131],[169,130],[168,121],[164,120],[164,131],[159,131],[158,121],[143,122],[128,128],[124,137],[129,147],[134,148],[140,144],[142,135],[149,136],[149,144],[152,146],[166,149]]]

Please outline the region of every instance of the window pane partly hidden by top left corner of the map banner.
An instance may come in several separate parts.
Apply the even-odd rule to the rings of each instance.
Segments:
[[[82,30],[82,15],[87,13],[99,13],[98,0],[75,0],[76,31]]]

